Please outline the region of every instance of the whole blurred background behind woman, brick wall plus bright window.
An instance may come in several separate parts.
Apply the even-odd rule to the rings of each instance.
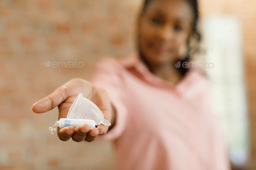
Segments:
[[[3,0],[0,3],[0,170],[113,169],[111,141],[63,142],[49,126],[58,109],[35,114],[33,103],[66,81],[90,78],[106,56],[135,47],[143,0]],[[222,120],[233,170],[256,169],[256,1],[199,0],[199,27],[212,62],[212,103]],[[82,68],[46,68],[82,62]],[[81,66],[81,65],[80,65]]]

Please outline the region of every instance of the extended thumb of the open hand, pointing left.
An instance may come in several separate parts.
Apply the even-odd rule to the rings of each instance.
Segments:
[[[68,92],[66,90],[66,87],[62,85],[61,87],[56,89],[52,94],[44,97],[43,99],[33,104],[31,109],[35,113],[47,112],[58,106],[63,101],[65,101],[67,97]]]

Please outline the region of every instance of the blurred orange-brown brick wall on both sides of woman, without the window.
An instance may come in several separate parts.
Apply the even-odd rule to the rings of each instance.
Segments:
[[[57,120],[58,109],[35,114],[31,106],[71,78],[89,78],[102,56],[127,55],[134,45],[132,35],[140,3],[141,0],[1,1],[0,170],[69,170],[71,166],[77,170],[112,169],[111,142],[60,141],[56,133],[51,135],[48,130]],[[200,0],[201,16],[231,14],[243,20],[252,158],[256,162],[254,5],[253,0]],[[83,62],[84,67],[47,69],[47,61]]]

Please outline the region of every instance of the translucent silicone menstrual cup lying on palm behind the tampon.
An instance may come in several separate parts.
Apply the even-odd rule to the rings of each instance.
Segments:
[[[83,97],[82,93],[75,98],[69,109],[68,119],[91,119],[95,121],[95,125],[107,125],[110,126],[111,123],[104,119],[102,111],[96,106],[90,99]]]

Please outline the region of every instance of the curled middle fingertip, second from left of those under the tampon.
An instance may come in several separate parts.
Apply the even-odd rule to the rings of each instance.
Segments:
[[[75,132],[72,135],[72,140],[80,142],[85,140],[87,133],[90,131],[90,126],[87,124],[79,125],[75,128]]]

